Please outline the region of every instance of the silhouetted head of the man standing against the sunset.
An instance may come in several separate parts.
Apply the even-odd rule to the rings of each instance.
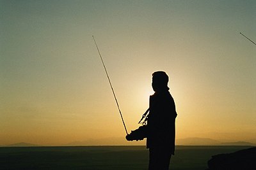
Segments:
[[[152,74],[152,88],[155,92],[169,90],[168,84],[169,78],[164,71],[156,71]]]

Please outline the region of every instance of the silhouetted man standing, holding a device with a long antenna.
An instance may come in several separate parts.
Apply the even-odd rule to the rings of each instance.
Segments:
[[[174,155],[177,113],[168,81],[168,75],[164,71],[152,74],[152,88],[155,93],[150,96],[147,125],[139,127],[125,137],[127,141],[147,138],[148,170],[168,170],[170,159]]]

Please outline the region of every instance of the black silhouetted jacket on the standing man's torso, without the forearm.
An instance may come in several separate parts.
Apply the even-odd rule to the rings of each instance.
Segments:
[[[174,155],[175,118],[173,97],[168,90],[150,96],[147,120],[147,148],[163,149]]]

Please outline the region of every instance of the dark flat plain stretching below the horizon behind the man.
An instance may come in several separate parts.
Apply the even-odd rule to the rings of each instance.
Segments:
[[[207,168],[212,155],[250,146],[176,146],[173,170]],[[145,146],[0,147],[0,169],[147,169]]]

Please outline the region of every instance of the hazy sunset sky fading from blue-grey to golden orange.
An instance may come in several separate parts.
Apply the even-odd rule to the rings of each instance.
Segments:
[[[256,141],[256,46],[239,34],[256,41],[255,9],[253,0],[1,0],[0,145],[124,139],[92,36],[129,132],[161,70],[177,139]]]

